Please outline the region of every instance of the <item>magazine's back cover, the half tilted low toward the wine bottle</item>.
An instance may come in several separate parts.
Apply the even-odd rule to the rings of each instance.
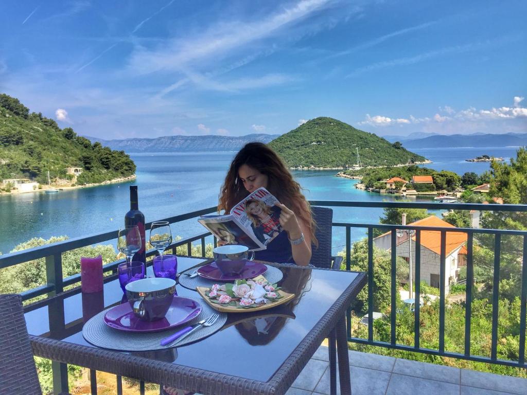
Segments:
[[[241,244],[249,250],[265,250],[263,244],[258,244],[251,239],[251,235],[246,234],[240,226],[233,221],[232,215],[202,215],[198,222],[207,228],[218,240],[227,244]]]

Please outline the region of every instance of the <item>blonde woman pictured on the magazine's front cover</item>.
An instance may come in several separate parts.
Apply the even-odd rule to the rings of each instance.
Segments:
[[[280,233],[280,208],[268,206],[265,202],[249,199],[245,202],[245,212],[251,221],[252,231],[258,240],[267,244]]]

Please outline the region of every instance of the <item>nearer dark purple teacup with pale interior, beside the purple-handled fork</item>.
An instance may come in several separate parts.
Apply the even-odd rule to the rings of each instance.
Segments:
[[[126,297],[135,317],[143,321],[161,320],[174,299],[175,280],[148,278],[126,284]]]

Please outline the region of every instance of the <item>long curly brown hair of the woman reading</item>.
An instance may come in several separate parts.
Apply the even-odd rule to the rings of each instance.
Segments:
[[[218,211],[230,211],[233,206],[249,195],[238,176],[240,166],[244,164],[267,175],[267,190],[280,203],[292,210],[297,218],[308,224],[311,242],[318,246],[315,237],[316,223],[311,216],[309,202],[300,192],[300,184],[293,179],[276,152],[264,143],[248,143],[236,154],[221,186]]]

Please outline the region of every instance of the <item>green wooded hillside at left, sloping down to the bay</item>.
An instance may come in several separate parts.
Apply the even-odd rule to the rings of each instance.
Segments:
[[[123,151],[77,136],[71,127],[60,129],[41,113],[30,113],[16,98],[0,94],[0,181],[28,178],[47,183],[71,180],[66,167],[82,167],[77,184],[100,183],[135,173],[135,164]]]

